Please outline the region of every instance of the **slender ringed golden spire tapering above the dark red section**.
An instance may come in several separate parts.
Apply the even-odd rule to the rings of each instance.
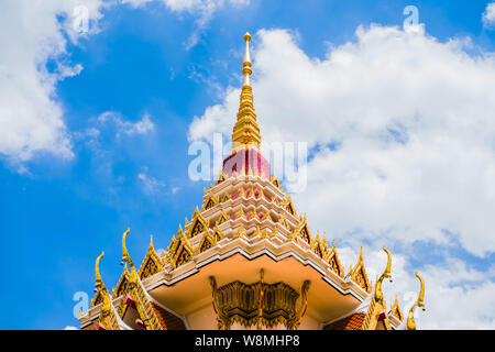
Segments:
[[[253,88],[251,87],[251,55],[250,55],[250,33],[244,34],[245,55],[242,64],[242,74],[244,75],[244,84],[241,90],[241,103],[239,106],[238,121],[233,128],[232,145],[233,148],[242,147],[260,148],[261,136],[260,128],[256,123],[256,113],[254,112]]]

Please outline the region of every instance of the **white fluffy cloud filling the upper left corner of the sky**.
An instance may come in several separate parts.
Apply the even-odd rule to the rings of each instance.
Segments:
[[[36,152],[73,156],[55,84],[82,67],[67,63],[64,35],[77,41],[94,32],[102,1],[85,1],[85,33],[74,25],[79,4],[76,0],[0,3],[0,155],[13,163],[29,161]],[[48,61],[55,63],[54,70],[46,68]]]

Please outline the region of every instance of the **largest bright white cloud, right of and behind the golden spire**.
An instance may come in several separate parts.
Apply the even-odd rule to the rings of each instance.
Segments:
[[[360,28],[356,41],[310,58],[283,30],[253,41],[264,141],[319,146],[296,195],[317,229],[356,241],[435,240],[495,251],[495,59],[468,40]],[[189,139],[231,133],[239,89],[195,118]],[[327,147],[337,143],[338,148]]]

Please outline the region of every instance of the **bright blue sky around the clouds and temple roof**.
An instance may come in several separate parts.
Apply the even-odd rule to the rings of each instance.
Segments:
[[[33,58],[37,69],[46,70],[45,78],[56,76],[61,64],[67,67],[79,64],[82,70],[54,79],[53,91],[47,95],[62,110],[70,156],[40,147],[34,148],[32,155],[21,157],[15,148],[0,148],[3,243],[0,297],[8,302],[2,310],[0,329],[78,326],[72,315],[73,295],[92,293],[95,258],[101,250],[106,252],[101,265],[103,280],[108,287],[117,283],[122,270],[120,239],[128,227],[131,228],[128,245],[134,262],[141,262],[151,234],[155,248],[168,245],[178,224],[200,206],[202,189],[209,185],[188,177],[193,158],[188,155],[188,133],[193,119],[204,117],[208,107],[223,105],[227,87],[240,87],[245,31],[287,30],[307,57],[324,61],[329,47],[356,42],[359,25],[367,28],[377,23],[402,28],[403,9],[414,4],[419,9],[419,21],[425,23],[429,36],[440,43],[470,37],[474,47],[466,53],[475,57],[495,51],[495,31],[482,21],[487,3],[262,3],[251,0],[233,4],[226,1],[208,18],[201,10],[177,10],[162,1],[138,8],[111,3],[99,8],[99,31],[80,36],[76,42],[64,24],[72,13],[70,8],[61,6],[58,10],[54,6],[50,11],[41,11],[46,23],[59,24],[51,31],[65,38],[65,50],[48,58]],[[14,14],[29,11],[11,4],[4,7]],[[13,12],[2,11],[0,19]],[[14,42],[16,32],[3,25],[9,24],[0,25],[2,32],[11,34],[1,37],[0,43]],[[30,22],[23,24],[23,30],[29,32]],[[194,37],[197,43],[193,45]],[[42,40],[35,38],[40,47]],[[261,41],[255,40],[256,36],[253,42],[256,51]],[[2,46],[9,48],[7,44]],[[3,56],[9,56],[7,50],[0,55]],[[20,69],[6,67],[12,75]],[[256,79],[256,66],[254,72]],[[4,80],[1,73],[0,79]],[[256,85],[254,96],[258,99]],[[100,117],[106,112],[110,112],[110,118],[103,120]],[[8,118],[0,117],[0,128],[9,122]],[[232,122],[234,118],[232,114]],[[151,127],[144,132],[132,130],[140,121],[150,121]],[[345,242],[339,231],[336,230],[334,237]],[[418,266],[426,271],[437,263],[458,261],[468,273],[475,272],[473,275],[477,278],[468,279],[472,287],[488,285],[488,292],[493,293],[493,248],[480,253],[463,246],[462,237],[455,231],[469,235],[470,227],[454,227],[447,240],[432,237],[413,241],[413,245],[399,240],[393,243],[397,252],[404,254],[404,267],[411,272]],[[330,232],[327,230],[332,238]],[[359,240],[373,248],[370,238]],[[463,286],[462,283],[455,285]],[[414,284],[410,289],[416,289]],[[473,317],[473,321],[477,318]],[[493,323],[493,317],[480,319],[488,326]]]

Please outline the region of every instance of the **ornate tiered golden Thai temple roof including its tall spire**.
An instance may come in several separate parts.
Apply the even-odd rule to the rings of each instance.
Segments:
[[[96,294],[82,329],[416,329],[425,286],[405,319],[398,300],[382,292],[387,266],[372,283],[363,249],[349,272],[336,241],[312,233],[260,151],[261,133],[251,86],[251,35],[244,35],[244,76],[232,133],[232,153],[202,205],[177,226],[166,251],[153,238],[136,266],[122,237],[122,274],[110,293],[96,261]]]

